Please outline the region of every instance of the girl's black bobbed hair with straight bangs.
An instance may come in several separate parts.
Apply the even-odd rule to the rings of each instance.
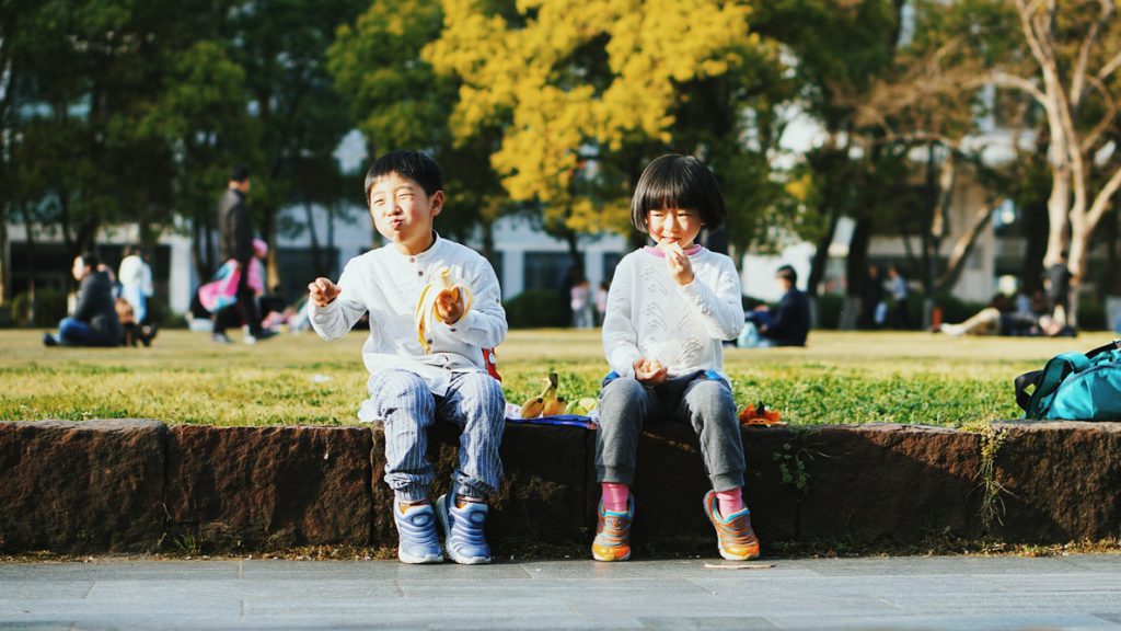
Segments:
[[[664,208],[695,210],[710,230],[719,228],[728,216],[720,184],[708,167],[693,156],[677,154],[647,165],[631,198],[631,222],[647,232],[647,213]]]

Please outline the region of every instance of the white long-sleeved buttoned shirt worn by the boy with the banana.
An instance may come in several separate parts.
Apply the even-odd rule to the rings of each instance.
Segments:
[[[454,324],[432,319],[433,327],[426,333],[432,353],[426,355],[414,318],[421,291],[438,280],[445,266],[451,268],[453,282],[471,289],[473,300],[471,310]],[[319,337],[343,337],[369,311],[370,336],[362,347],[362,360],[370,374],[410,371],[437,396],[447,392],[452,373],[485,371],[482,349],[506,339],[506,311],[494,269],[475,250],[438,235],[432,247],[417,255],[404,254],[389,244],[355,256],[346,263],[337,285],[341,292],[331,304],[311,308],[312,328]],[[362,411],[359,417],[363,417]]]

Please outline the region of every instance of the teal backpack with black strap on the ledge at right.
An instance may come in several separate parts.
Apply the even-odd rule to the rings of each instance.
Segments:
[[[1121,420],[1121,339],[1086,354],[1064,353],[1043,371],[1016,377],[1016,403],[1026,419]]]

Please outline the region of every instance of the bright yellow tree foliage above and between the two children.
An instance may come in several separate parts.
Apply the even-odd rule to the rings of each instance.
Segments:
[[[462,82],[453,135],[501,126],[490,161],[510,198],[540,201],[577,231],[624,227],[628,213],[623,186],[594,201],[577,192],[582,154],[670,145],[680,85],[729,72],[756,44],[744,2],[443,0],[443,11],[423,56]]]

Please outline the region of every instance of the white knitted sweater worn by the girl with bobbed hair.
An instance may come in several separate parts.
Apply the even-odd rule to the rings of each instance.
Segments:
[[[723,374],[723,341],[743,329],[740,275],[732,259],[706,248],[689,256],[693,282],[678,285],[664,257],[632,252],[615,267],[603,318],[603,351],[611,369],[634,376],[640,357],[658,359],[669,376]]]

